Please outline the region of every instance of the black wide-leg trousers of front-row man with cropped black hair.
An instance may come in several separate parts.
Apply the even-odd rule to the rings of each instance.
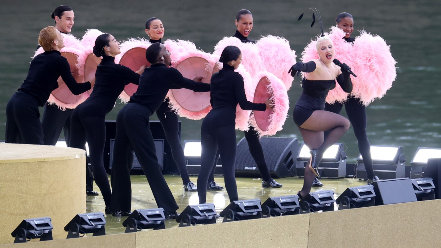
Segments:
[[[129,103],[116,118],[116,136],[112,160],[112,205],[111,210],[131,210],[131,164],[127,163],[132,151],[146,174],[153,197],[165,214],[173,214],[179,208],[158,164],[156,149],[150,130],[149,108]]]

